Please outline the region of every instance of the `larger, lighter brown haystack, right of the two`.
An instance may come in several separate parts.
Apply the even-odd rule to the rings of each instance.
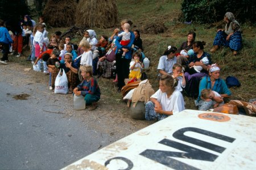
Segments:
[[[87,28],[114,27],[117,13],[115,0],[81,0],[76,9],[76,25]]]

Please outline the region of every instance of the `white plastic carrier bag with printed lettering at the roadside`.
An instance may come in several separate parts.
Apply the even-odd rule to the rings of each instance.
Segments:
[[[68,94],[68,78],[65,74],[65,71],[63,70],[62,75],[60,75],[61,69],[59,71],[59,74],[57,75],[55,79],[55,94]]]

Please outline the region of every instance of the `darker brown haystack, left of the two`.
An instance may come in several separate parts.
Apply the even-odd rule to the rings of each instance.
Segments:
[[[75,0],[49,0],[43,11],[44,19],[51,27],[69,27],[75,24]]]

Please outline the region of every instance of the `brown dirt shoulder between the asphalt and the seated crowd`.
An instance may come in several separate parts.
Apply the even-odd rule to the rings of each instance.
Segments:
[[[11,57],[9,60],[11,60]],[[31,91],[31,93],[28,94],[27,92],[26,94],[20,92],[19,95],[14,96],[15,100],[25,101],[28,97],[32,97],[38,100],[38,102],[40,100],[49,100],[49,105],[61,107],[61,111],[47,111],[47,109],[45,109],[43,112],[62,114],[63,118],[71,116],[76,117],[91,129],[112,135],[115,140],[154,123],[146,120],[134,120],[130,117],[130,109],[125,103],[115,101],[114,99],[110,102],[109,97],[106,97],[104,94],[101,95],[96,110],[88,111],[86,108],[82,111],[76,111],[73,109],[72,94],[54,94],[53,91],[49,90],[49,75],[32,70],[32,65],[29,67],[15,62],[8,63],[8,65],[0,65],[1,81],[17,87],[26,86],[30,88]],[[101,87],[101,84],[99,85]],[[42,95],[40,95],[40,97],[35,96],[35,94],[38,93]]]

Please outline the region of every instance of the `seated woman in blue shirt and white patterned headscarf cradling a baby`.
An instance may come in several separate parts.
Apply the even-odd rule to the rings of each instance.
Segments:
[[[201,100],[201,91],[205,88],[209,88],[212,91],[216,91],[220,96],[214,96],[212,100]],[[223,98],[229,98],[231,95],[231,92],[226,86],[226,83],[224,80],[220,78],[220,67],[218,67],[216,64],[213,64],[209,67],[209,76],[205,76],[200,81],[199,85],[199,96],[196,101],[196,105],[199,107],[199,111],[206,111],[209,108],[212,107],[213,101],[216,101],[216,103],[221,103],[223,101]]]

